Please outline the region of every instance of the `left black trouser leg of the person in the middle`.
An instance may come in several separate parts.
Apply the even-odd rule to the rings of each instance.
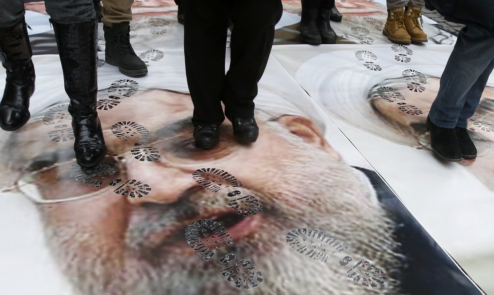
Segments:
[[[182,3],[187,19],[184,26],[185,69],[194,103],[194,126],[219,125],[225,120],[221,94],[225,84],[230,3],[223,0],[187,0]]]

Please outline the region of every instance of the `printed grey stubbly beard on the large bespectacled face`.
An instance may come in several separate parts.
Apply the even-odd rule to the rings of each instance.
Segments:
[[[284,159],[277,167],[262,167],[272,186],[242,188],[263,204],[264,212],[259,214],[265,222],[258,225],[255,234],[235,241],[234,249],[220,251],[208,262],[197,255],[153,256],[139,250],[142,242],[139,232],[153,231],[155,223],[179,222],[180,214],[173,212],[163,212],[148,228],[129,230],[122,243],[126,247],[125,255],[118,261],[111,251],[101,248],[95,249],[92,259],[78,255],[75,249],[91,236],[90,229],[77,229],[76,225],[65,233],[47,229],[48,241],[63,272],[84,274],[73,281],[75,292],[83,295],[403,294],[398,289],[399,282],[390,277],[399,268],[392,223],[369,185],[352,168],[329,158],[322,149],[311,148],[309,152],[308,144],[302,139],[293,139],[283,130],[279,134],[291,139],[292,146],[288,149],[300,150],[299,157]],[[220,192],[204,190],[201,196],[189,201],[215,208],[225,207],[224,199]],[[286,234],[298,228],[323,231],[349,248],[330,255],[325,263],[312,260],[286,242]],[[183,247],[189,247],[185,237]],[[220,274],[225,266],[218,259],[229,252],[234,252],[239,261],[249,259],[262,272],[264,281],[257,288],[249,291],[235,288]],[[353,261],[340,267],[339,261],[345,256]],[[361,259],[388,275],[383,286],[364,287],[346,277],[345,272]]]

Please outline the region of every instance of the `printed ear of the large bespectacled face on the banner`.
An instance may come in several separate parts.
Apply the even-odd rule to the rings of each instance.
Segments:
[[[316,147],[323,148],[335,159],[341,159],[340,155],[326,141],[321,130],[311,120],[301,116],[285,115],[279,118],[279,122],[285,125],[292,134]]]

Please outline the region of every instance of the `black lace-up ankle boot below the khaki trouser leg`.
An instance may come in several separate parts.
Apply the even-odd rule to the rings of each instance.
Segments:
[[[130,44],[129,22],[103,25],[105,32],[106,63],[118,66],[119,71],[127,76],[140,76],[148,72],[148,67],[134,52]]]

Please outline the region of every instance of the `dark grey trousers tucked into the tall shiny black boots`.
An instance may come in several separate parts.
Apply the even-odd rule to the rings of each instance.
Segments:
[[[96,17],[92,0],[45,0],[46,12],[58,23],[88,21]],[[24,16],[22,0],[0,0],[0,27],[17,23]]]

